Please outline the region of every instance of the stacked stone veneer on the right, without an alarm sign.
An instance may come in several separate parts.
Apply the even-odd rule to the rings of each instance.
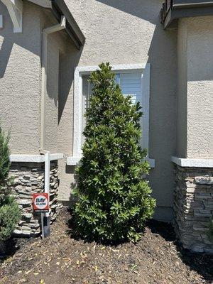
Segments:
[[[213,253],[209,222],[213,214],[213,168],[175,165],[175,231],[186,249]]]

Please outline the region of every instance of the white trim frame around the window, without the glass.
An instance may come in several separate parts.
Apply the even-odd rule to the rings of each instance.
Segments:
[[[114,72],[141,72],[142,84],[142,147],[148,151],[149,143],[149,100],[150,100],[150,64],[111,65]],[[82,158],[82,76],[89,75],[99,69],[98,66],[77,66],[74,73],[74,126],[72,156],[67,158],[67,165],[76,165]],[[155,168],[155,160],[147,155],[151,168]]]

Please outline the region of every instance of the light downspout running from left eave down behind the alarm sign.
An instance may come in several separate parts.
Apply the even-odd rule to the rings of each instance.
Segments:
[[[61,17],[60,23],[55,26],[44,28],[42,31],[42,56],[41,56],[41,103],[40,103],[40,154],[45,155],[45,193],[48,193],[50,202],[50,152],[45,151],[45,98],[48,95],[48,35],[66,28],[65,16]],[[44,215],[43,238],[50,236],[50,213]]]

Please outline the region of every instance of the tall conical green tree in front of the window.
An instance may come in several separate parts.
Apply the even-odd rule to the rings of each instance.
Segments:
[[[96,241],[138,241],[153,215],[155,200],[144,179],[149,165],[138,144],[139,103],[124,97],[109,63],[92,72],[94,85],[77,168],[76,230]]]

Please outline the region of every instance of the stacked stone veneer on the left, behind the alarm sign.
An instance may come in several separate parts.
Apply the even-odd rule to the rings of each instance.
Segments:
[[[44,163],[12,163],[10,175],[14,177],[13,195],[21,209],[21,221],[14,231],[15,236],[39,236],[40,213],[33,212],[33,193],[44,192]],[[50,223],[58,213],[58,163],[50,163]]]

